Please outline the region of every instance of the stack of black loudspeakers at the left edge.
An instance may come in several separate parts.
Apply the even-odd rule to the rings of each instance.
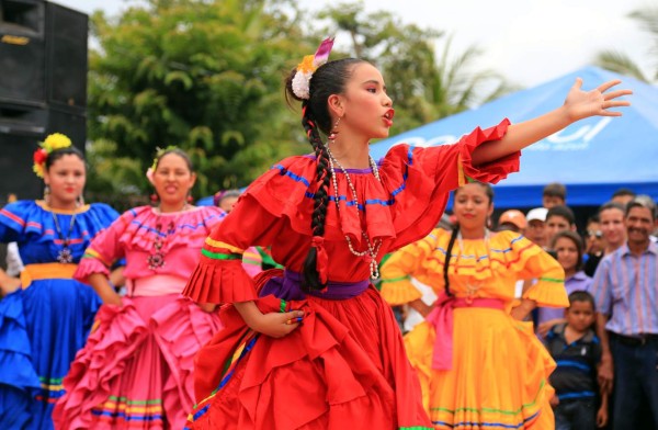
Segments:
[[[43,0],[0,0],[0,201],[42,195],[32,155],[50,133],[84,150],[86,14]]]

